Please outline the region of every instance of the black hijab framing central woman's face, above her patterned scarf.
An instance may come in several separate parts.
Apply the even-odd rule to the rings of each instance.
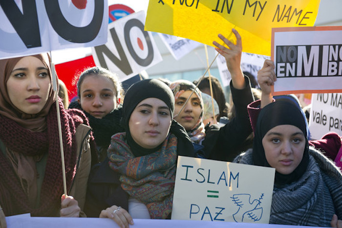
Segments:
[[[163,101],[170,109],[171,119],[173,115],[174,109],[174,97],[171,89],[167,86],[167,84],[161,82],[157,79],[147,79],[143,81],[139,81],[131,85],[127,93],[125,95],[124,104],[122,107],[122,118],[121,124],[126,129],[126,139],[127,143],[130,146],[132,153],[135,157],[144,156],[147,154],[151,154],[157,151],[161,145],[158,145],[152,149],[146,149],[140,145],[138,145],[132,138],[129,129],[129,118],[132,114],[135,107],[143,100],[147,98],[157,98]]]

